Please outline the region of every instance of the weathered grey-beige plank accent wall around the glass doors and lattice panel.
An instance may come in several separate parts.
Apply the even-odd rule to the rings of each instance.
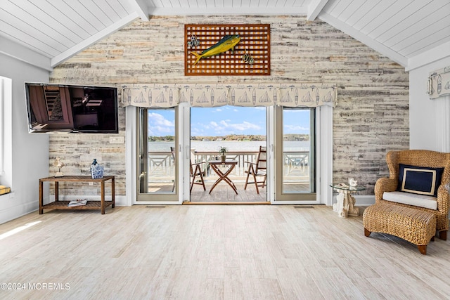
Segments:
[[[184,76],[184,24],[271,25],[271,75]],[[333,181],[355,177],[373,195],[388,174],[385,154],[409,148],[409,74],[392,60],[324,22],[299,16],[182,16],[140,20],[111,34],[53,70],[51,81],[66,84],[304,83],[337,85],[333,110]],[[125,135],[120,108],[120,135]],[[116,193],[125,195],[125,145],[110,135],[53,135],[50,173],[61,157],[65,174],[89,174],[93,158],[116,174]],[[81,187],[86,194],[95,186]],[[70,185],[61,192],[79,193]],[[361,194],[364,194],[361,193]]]

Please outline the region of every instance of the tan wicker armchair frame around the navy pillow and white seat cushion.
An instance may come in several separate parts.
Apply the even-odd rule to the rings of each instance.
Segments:
[[[413,207],[423,211],[430,211],[436,216],[436,230],[439,238],[446,240],[449,230],[449,183],[450,183],[450,153],[430,150],[400,150],[390,151],[386,155],[389,178],[379,178],[375,183],[375,202],[390,203],[404,207]],[[401,204],[383,200],[384,192],[392,192],[397,189],[399,181],[399,164],[409,164],[418,167],[444,167],[442,181],[437,190],[437,210],[423,207],[415,207],[409,204]]]

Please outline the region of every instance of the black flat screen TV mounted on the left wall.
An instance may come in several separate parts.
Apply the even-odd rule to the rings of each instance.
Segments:
[[[25,82],[30,133],[118,133],[117,87]]]

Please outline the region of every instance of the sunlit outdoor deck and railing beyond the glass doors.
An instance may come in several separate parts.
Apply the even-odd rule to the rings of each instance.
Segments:
[[[212,193],[210,189],[218,176],[207,164],[210,160],[218,159],[217,152],[191,153],[193,162],[206,162],[203,164],[205,174],[205,187],[193,185],[191,192],[191,202],[267,202],[267,189],[259,188],[259,195],[256,193],[254,183],[249,183],[247,189],[245,185],[245,171],[248,169],[247,162],[255,162],[258,152],[227,152],[227,159],[236,160],[238,164],[231,172],[229,178],[238,189],[238,194],[224,181],[219,183]],[[174,159],[171,152],[149,152],[149,193],[172,193],[174,181]],[[283,182],[285,193],[306,192],[309,190],[309,152],[285,152],[283,154],[284,172]],[[199,176],[195,178],[197,181]],[[249,182],[252,182],[249,179]]]

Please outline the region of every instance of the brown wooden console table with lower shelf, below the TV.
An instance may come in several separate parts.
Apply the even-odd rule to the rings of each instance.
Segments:
[[[105,181],[111,181],[111,201],[105,201]],[[44,205],[44,181],[55,183],[55,202]],[[101,200],[88,201],[86,205],[69,207],[70,201],[59,201],[59,183],[60,182],[99,182],[101,183]],[[101,214],[105,214],[106,207],[115,207],[115,187],[114,176],[104,176],[103,178],[93,179],[91,176],[63,176],[47,177],[39,179],[39,214],[44,214],[44,209],[101,209]]]

